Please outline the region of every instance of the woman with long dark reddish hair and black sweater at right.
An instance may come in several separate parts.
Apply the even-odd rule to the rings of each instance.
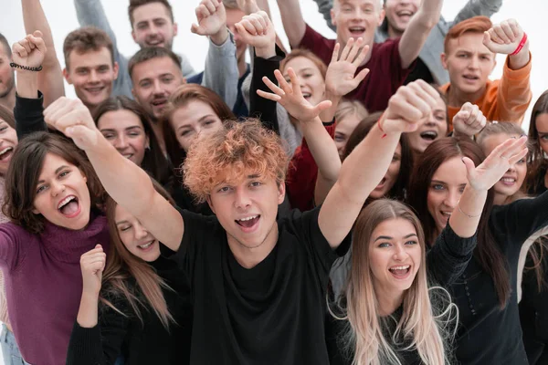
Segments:
[[[511,141],[523,148],[526,138],[504,143]],[[499,159],[509,170],[526,152],[503,153]],[[433,245],[448,218],[459,211],[458,200],[466,186],[461,177],[463,157],[480,163],[484,153],[469,139],[445,138],[432,143],[417,162],[409,203],[421,219],[428,245]],[[517,303],[518,261],[525,241],[548,224],[544,209],[548,194],[493,206],[494,194],[490,189],[480,217],[474,259],[449,290],[460,317],[456,356],[463,364],[526,364]],[[497,336],[486,338],[488,330]]]

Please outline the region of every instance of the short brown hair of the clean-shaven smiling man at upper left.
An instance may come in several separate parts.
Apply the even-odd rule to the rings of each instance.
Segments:
[[[100,28],[95,26],[83,26],[68,33],[63,43],[63,55],[67,69],[70,52],[76,51],[79,54],[89,51],[98,51],[101,47],[107,47],[111,52],[111,62],[114,65],[114,47],[111,37]]]

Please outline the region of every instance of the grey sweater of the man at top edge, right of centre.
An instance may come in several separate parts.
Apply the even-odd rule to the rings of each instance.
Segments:
[[[318,5],[318,10],[325,19],[327,26],[336,30],[331,22],[330,11],[332,9],[333,0],[314,0]],[[453,21],[447,21],[440,16],[437,26],[435,26],[430,35],[427,37],[425,46],[420,51],[418,57],[427,65],[434,81],[438,85],[443,85],[449,82],[448,71],[441,65],[440,55],[443,53],[443,44],[445,36],[449,29],[458,22],[469,19],[473,16],[492,16],[501,9],[502,0],[469,0],[464,7],[458,12],[458,15]],[[385,26],[380,26],[374,35],[375,43],[382,43],[388,39],[388,30]]]

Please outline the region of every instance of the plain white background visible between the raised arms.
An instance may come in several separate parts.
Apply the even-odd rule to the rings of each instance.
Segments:
[[[467,3],[468,0],[446,0],[442,15],[446,19],[452,19],[458,10]],[[474,0],[486,1],[489,0]],[[76,18],[76,12],[71,0],[42,0],[42,6],[46,12],[49,25],[53,32],[55,47],[61,65],[64,64],[62,56],[63,39],[67,34],[79,26]],[[190,25],[195,21],[195,6],[198,0],[172,0],[174,6],[175,20],[179,24],[179,35],[174,41],[174,51],[184,53],[191,61],[196,70],[202,70],[205,60],[207,42],[201,36],[195,36],[190,33]],[[278,30],[279,36],[288,47],[287,38],[283,35],[283,28],[279,18],[279,11],[275,0],[269,0],[270,10],[274,19],[274,24]],[[127,0],[102,0],[102,4],[111,22],[111,27],[117,36],[118,47],[121,53],[131,56],[138,50],[131,36],[131,26],[127,16]],[[326,26],[323,17],[318,13],[318,7],[312,0],[300,0],[300,5],[304,18],[316,30],[325,36],[334,34]],[[532,104],[548,89],[548,47],[544,36],[548,33],[546,30],[545,15],[548,11],[548,1],[546,0],[505,0],[501,11],[492,16],[493,22],[497,23],[504,19],[517,19],[524,30],[527,32],[532,49]],[[21,15],[21,4],[17,0],[0,0],[0,33],[7,37],[10,43],[25,36],[23,26],[23,16]],[[503,57],[498,57],[498,66],[491,75],[492,78],[500,78]],[[68,96],[74,97],[72,87],[66,85]],[[523,122],[523,128],[528,128],[529,113],[532,105]],[[53,314],[52,314],[53,315]],[[0,364],[3,364],[0,359]]]

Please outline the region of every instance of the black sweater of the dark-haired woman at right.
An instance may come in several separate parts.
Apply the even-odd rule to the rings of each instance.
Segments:
[[[518,258],[525,240],[548,224],[547,206],[548,193],[543,193],[493,208],[490,229],[508,261],[512,291],[501,310],[493,281],[476,259],[451,287],[459,310],[457,359],[462,365],[528,364],[516,294]]]

